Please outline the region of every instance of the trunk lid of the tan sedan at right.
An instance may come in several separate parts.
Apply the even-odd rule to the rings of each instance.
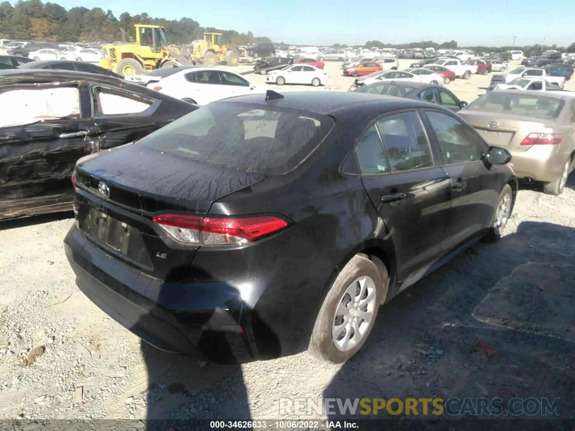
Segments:
[[[528,134],[543,133],[555,125],[554,120],[516,114],[470,110],[459,111],[459,114],[477,130],[486,143],[515,152],[527,151],[532,147],[532,145],[521,145]]]

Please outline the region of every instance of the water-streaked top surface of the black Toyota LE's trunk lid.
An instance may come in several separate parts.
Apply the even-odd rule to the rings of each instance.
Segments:
[[[196,213],[207,213],[216,199],[267,176],[200,164],[138,144],[84,157],[76,169],[82,178],[91,177],[95,190],[94,181],[108,184],[112,201],[145,211],[166,207]],[[150,205],[150,201],[162,205]]]

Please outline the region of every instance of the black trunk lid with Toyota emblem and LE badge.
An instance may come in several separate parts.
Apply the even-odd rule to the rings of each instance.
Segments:
[[[78,161],[76,226],[109,255],[176,282],[185,276],[198,246],[174,241],[151,221],[151,214],[185,211],[201,216],[216,199],[263,178],[124,145]]]

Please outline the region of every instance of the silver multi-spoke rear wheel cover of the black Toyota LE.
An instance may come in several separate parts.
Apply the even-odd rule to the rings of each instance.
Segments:
[[[332,340],[341,352],[347,352],[361,344],[374,319],[375,282],[369,276],[361,276],[348,286],[339,299],[332,323]]]

